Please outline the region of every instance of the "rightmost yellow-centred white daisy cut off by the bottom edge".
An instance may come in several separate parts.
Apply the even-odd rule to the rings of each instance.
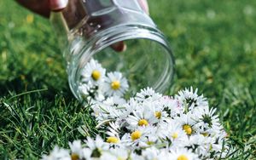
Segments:
[[[170,160],[199,160],[199,157],[185,148],[171,150]]]

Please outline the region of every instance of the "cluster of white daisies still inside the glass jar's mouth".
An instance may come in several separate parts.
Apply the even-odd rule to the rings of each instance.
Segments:
[[[91,59],[81,70],[79,92],[84,100],[106,100],[108,97],[125,96],[129,89],[127,79],[119,71],[107,72],[102,65]]]

